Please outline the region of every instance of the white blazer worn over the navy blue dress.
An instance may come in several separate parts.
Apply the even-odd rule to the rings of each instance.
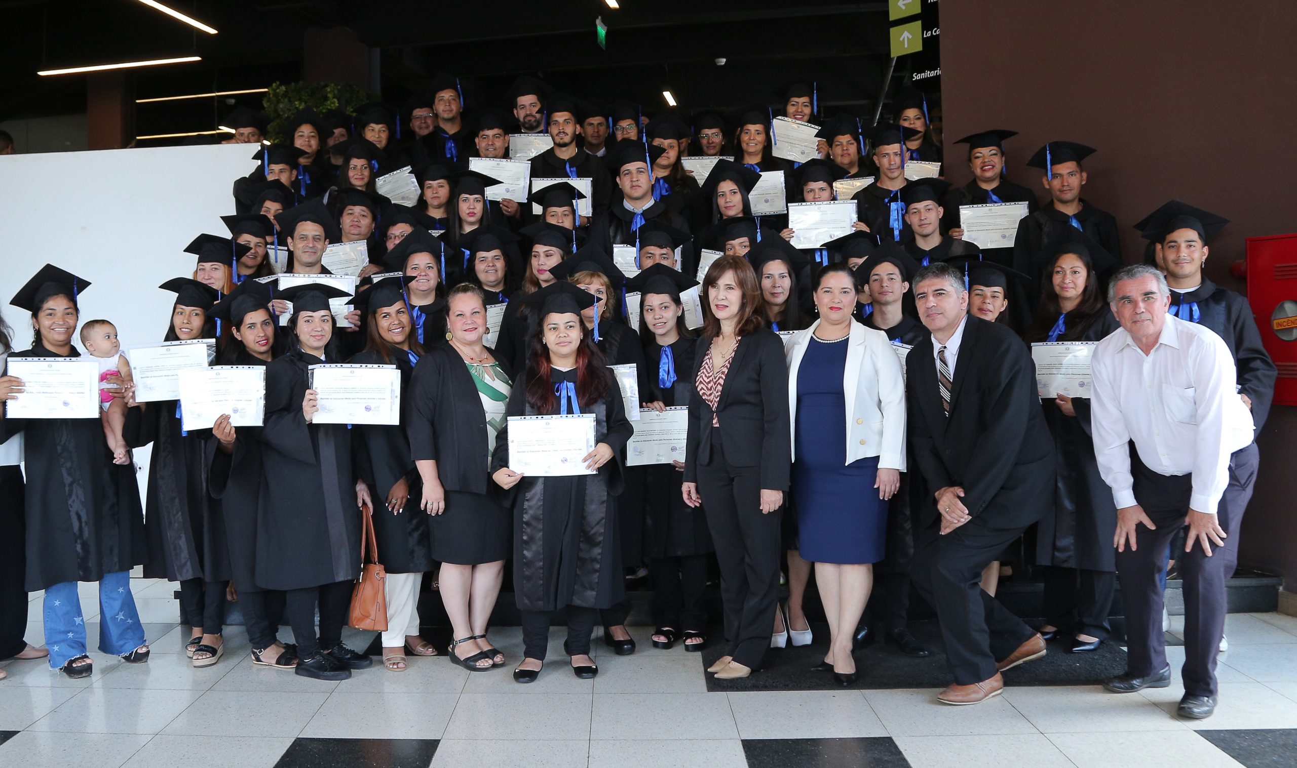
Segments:
[[[799,330],[786,339],[785,356],[789,361],[789,427],[796,458],[798,424],[798,369],[807,344],[812,341],[816,320],[811,328]],[[843,343],[843,342],[838,342]],[[852,321],[847,338],[847,365],[843,369],[842,391],[847,414],[847,464],[869,456],[878,457],[879,469],[905,471],[905,377],[900,359],[887,334]]]

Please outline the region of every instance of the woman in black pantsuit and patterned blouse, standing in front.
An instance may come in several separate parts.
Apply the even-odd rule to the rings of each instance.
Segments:
[[[783,342],[763,328],[761,293],[742,256],[707,271],[707,321],[689,404],[685,484],[707,504],[725,610],[725,653],[708,671],[747,677],[770,644],[779,588],[779,509],[791,438]]]

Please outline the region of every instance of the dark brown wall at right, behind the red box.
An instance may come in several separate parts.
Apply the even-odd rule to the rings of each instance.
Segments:
[[[1144,253],[1131,225],[1182,199],[1231,220],[1208,276],[1243,293],[1228,264],[1244,238],[1297,232],[1297,3],[958,0],[940,13],[951,181],[970,174],[966,148],[949,141],[974,131],[1018,131],[1009,175],[1034,189],[1031,153],[1088,144],[1099,152],[1083,196],[1117,216],[1127,263]],[[1297,408],[1275,407],[1258,444],[1241,566],[1281,572],[1297,591]]]

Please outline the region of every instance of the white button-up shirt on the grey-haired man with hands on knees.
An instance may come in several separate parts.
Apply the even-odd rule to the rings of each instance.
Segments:
[[[1126,329],[1099,342],[1091,425],[1099,473],[1117,508],[1135,505],[1130,449],[1163,475],[1193,477],[1189,506],[1215,514],[1230,455],[1252,444],[1252,412],[1235,394],[1230,348],[1213,330],[1167,315],[1145,355]]]

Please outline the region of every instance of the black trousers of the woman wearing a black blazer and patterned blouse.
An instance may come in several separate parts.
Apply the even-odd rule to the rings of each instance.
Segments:
[[[721,570],[725,655],[760,668],[778,602],[783,508],[761,514],[760,468],[730,466],[720,430],[712,434],[711,462],[698,465],[698,495]]]

